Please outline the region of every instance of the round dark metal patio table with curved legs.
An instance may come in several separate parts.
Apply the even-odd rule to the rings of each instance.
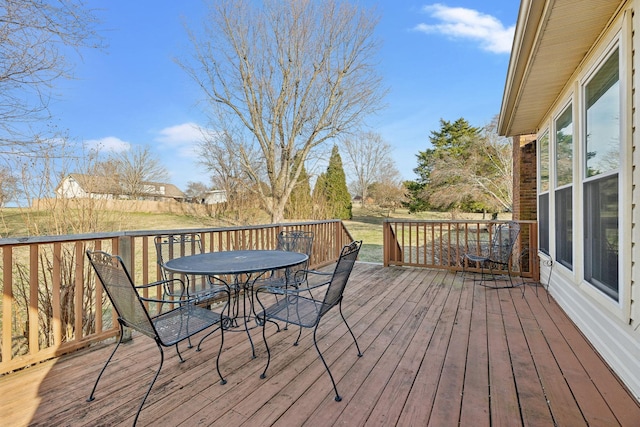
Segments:
[[[255,348],[251,339],[249,322],[255,319],[253,285],[263,274],[301,264],[309,259],[306,254],[280,250],[237,250],[207,252],[175,258],[165,263],[165,268],[174,273],[197,276],[233,276],[236,286],[233,304],[239,305],[240,290],[242,292],[242,320],[244,330],[249,337],[251,354],[255,357]],[[243,278],[244,280],[242,280]],[[229,301],[229,304],[232,304]],[[239,311],[239,310],[238,310]],[[235,312],[237,321],[238,311]],[[233,324],[231,326],[234,326]],[[235,323],[237,326],[237,322]]]

